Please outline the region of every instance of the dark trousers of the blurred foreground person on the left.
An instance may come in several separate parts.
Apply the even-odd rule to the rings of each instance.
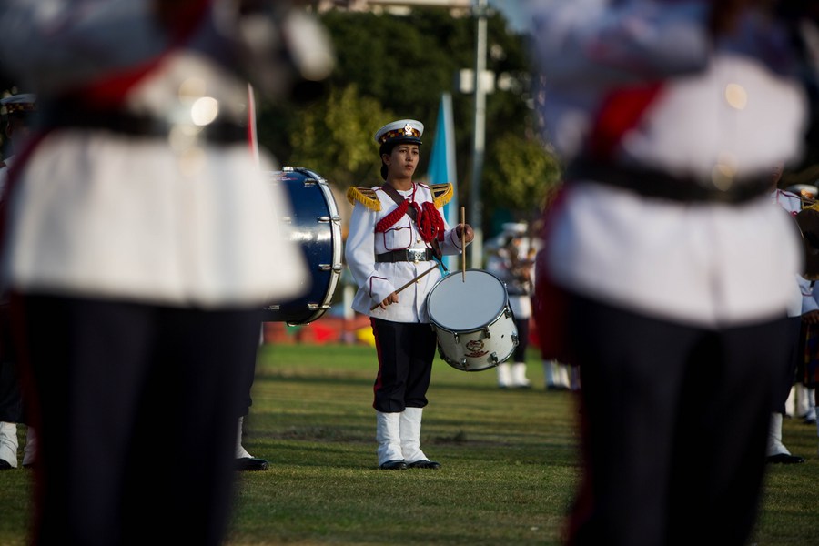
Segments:
[[[15,309],[40,440],[35,543],[219,544],[260,310],[42,296]]]

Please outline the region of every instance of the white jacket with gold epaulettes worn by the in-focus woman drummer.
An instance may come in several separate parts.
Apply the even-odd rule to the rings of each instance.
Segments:
[[[451,192],[452,187],[449,184],[429,187],[416,182],[413,183],[411,190],[399,191],[399,194],[419,205],[425,202],[434,203],[441,214],[440,208],[449,201]],[[438,197],[435,194],[439,194]],[[377,254],[410,248],[426,249],[430,248],[430,245],[420,237],[415,222],[406,214],[386,230],[376,232],[379,221],[398,208],[395,201],[381,187],[352,187],[348,197],[355,207],[349,219],[345,258],[359,286],[353,299],[353,309],[371,317],[395,322],[429,322],[426,299],[441,277],[440,270],[432,271],[401,291],[398,303],[389,305],[386,309],[378,307],[370,310],[412,278],[435,268],[438,262],[430,260],[376,263]],[[460,254],[463,243],[457,237],[455,228],[449,227],[442,214],[441,219],[444,223],[444,235],[439,239],[441,251],[443,254]]]

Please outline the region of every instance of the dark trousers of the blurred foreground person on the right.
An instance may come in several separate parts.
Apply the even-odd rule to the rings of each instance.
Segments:
[[[586,465],[571,543],[744,544],[786,319],[713,331],[581,298],[569,314]]]

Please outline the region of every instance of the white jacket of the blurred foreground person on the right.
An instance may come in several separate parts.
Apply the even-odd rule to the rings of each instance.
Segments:
[[[785,62],[766,62],[788,59],[776,28],[745,18],[745,42],[713,44],[701,2],[531,6],[541,111],[567,162],[588,146],[610,93],[656,82],[660,92],[612,163],[710,181],[772,176],[801,157],[804,89]],[[682,203],[576,179],[559,203],[539,267],[563,288],[703,327],[781,317],[793,301],[802,252],[793,221],[765,196]]]

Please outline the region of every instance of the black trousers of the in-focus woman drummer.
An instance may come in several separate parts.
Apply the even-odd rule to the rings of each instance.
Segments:
[[[370,318],[379,356],[372,407],[384,413],[427,405],[436,337],[429,324]]]

